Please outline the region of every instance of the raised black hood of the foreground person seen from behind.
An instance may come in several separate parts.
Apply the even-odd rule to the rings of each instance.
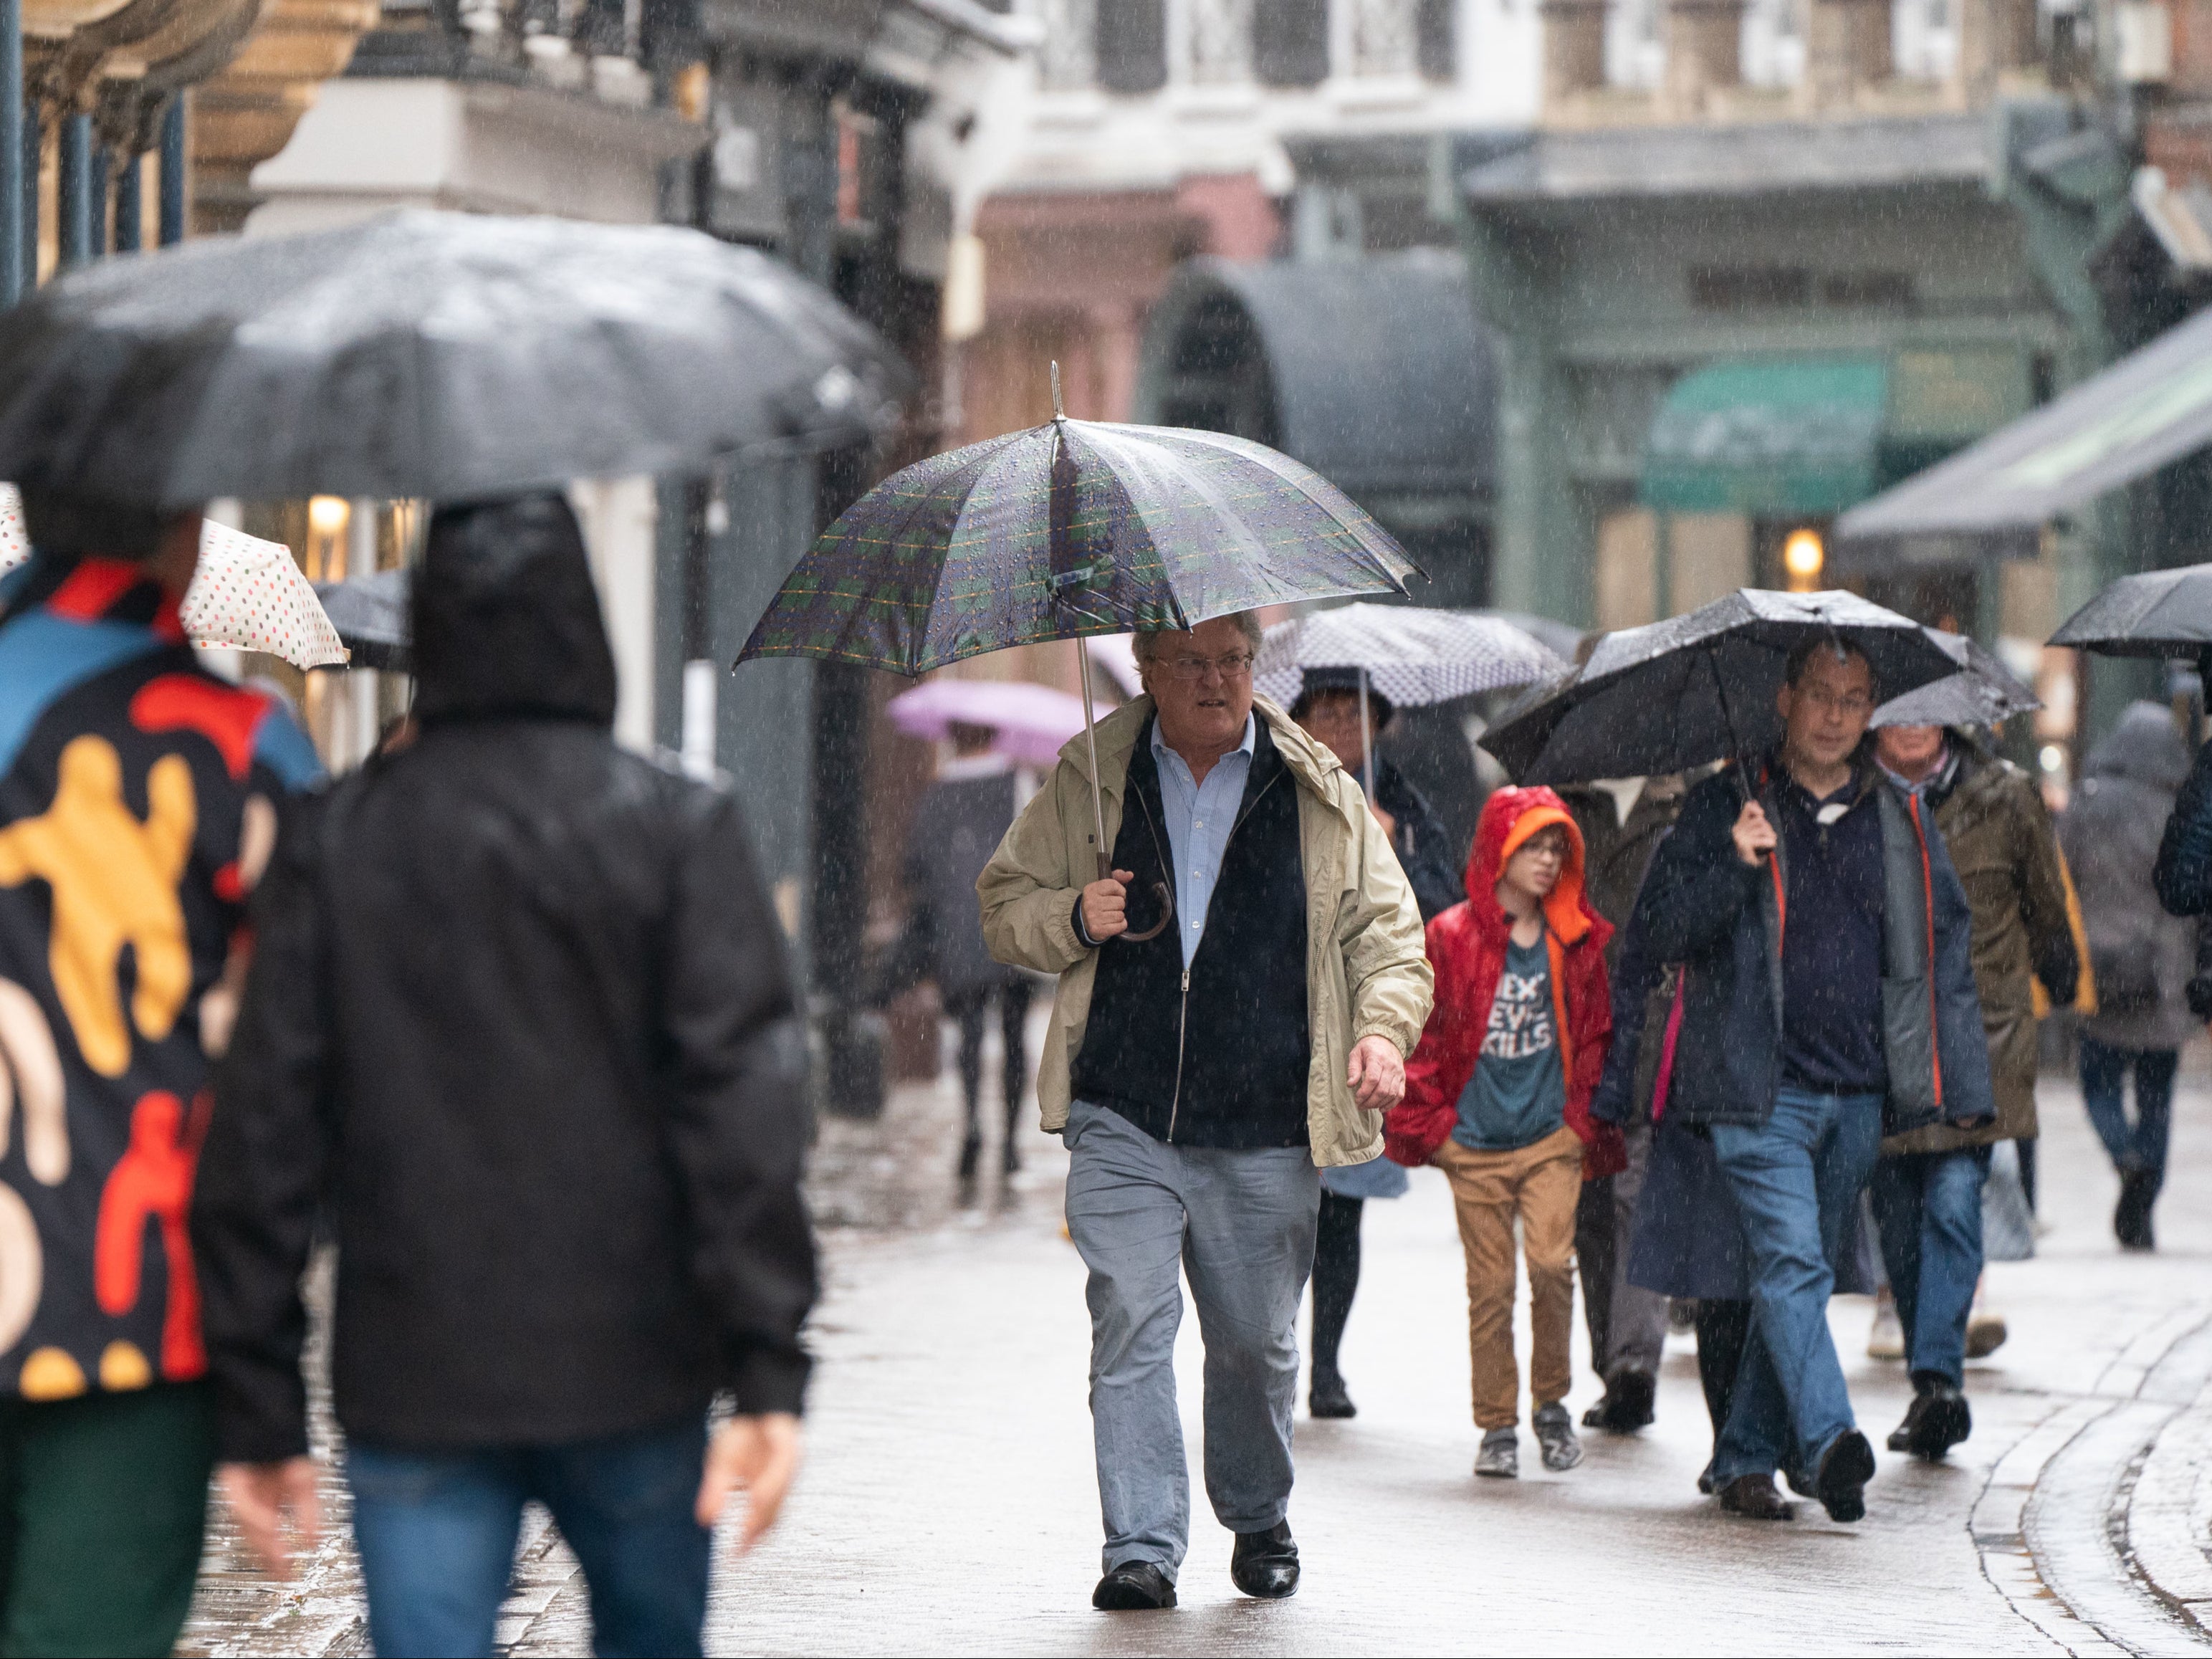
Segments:
[[[416,717],[615,723],[615,655],[557,493],[440,507],[414,580]]]

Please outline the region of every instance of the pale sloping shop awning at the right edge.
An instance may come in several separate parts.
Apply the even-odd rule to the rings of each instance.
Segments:
[[[2042,526],[2212,445],[2212,312],[1845,513],[1840,568],[2033,555]]]

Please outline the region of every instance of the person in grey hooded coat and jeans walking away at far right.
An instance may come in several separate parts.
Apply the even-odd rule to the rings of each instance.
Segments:
[[[2190,772],[2190,750],[2163,703],[2128,703],[2110,734],[2088,752],[2081,785],[2059,818],[2059,845],[2081,894],[2097,1013],[2081,1022],[2081,1102],[2097,1139],[2119,1170],[2112,1234],[2126,1250],[2150,1250],[2150,1210],[2166,1183],[2174,1066],[2203,1020],[2190,1013],[2197,925],[2159,902],[2152,883],[2159,843],[2174,816],[2174,792]],[[2177,836],[2179,845],[2181,838]],[[2168,858],[2168,887],[2179,858]],[[2185,874],[2185,872],[2183,872]],[[2135,1075],[2135,1121],[2126,1082]]]

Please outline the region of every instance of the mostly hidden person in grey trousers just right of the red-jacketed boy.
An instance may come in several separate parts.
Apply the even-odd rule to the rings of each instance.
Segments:
[[[1644,889],[1644,872],[1650,869],[1652,854],[1681,816],[1683,781],[1679,776],[1657,779],[1599,779],[1568,790],[1559,790],[1575,827],[1582,830],[1584,863],[1588,867],[1590,907],[1613,927],[1606,942],[1606,971],[1615,984],[1615,1026],[1619,1026],[1619,964],[1621,929],[1635,911],[1637,894]],[[1644,980],[1644,975],[1639,975]],[[1652,975],[1644,993],[1663,998],[1672,982]],[[1650,1022],[1652,1011],[1639,1011],[1639,1029]],[[1657,1020],[1666,1022],[1666,1006],[1657,1009]],[[1582,1416],[1584,1429],[1606,1429],[1608,1433],[1635,1433],[1652,1420],[1652,1402],[1659,1396],[1659,1358],[1666,1352],[1666,1305],[1668,1298],[1635,1285],[1628,1279],[1628,1243],[1637,1217],[1637,1199],[1650,1170],[1652,1144],[1652,1077],[1659,1064],[1659,1048],[1652,1044],[1652,1064],[1639,1066],[1639,1046],[1628,1044],[1628,1068],[1635,1075],[1635,1091],[1626,1099],[1626,1110],[1610,1121],[1621,1128],[1628,1164],[1619,1175],[1584,1181],[1582,1203],[1575,1210],[1575,1261],[1582,1265],[1582,1312],[1590,1327],[1590,1365],[1606,1385],[1604,1398]],[[1613,1064],[1608,1057],[1606,1071]]]

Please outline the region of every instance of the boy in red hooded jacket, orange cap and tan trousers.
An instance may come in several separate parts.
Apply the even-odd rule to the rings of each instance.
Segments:
[[[1429,922],[1436,1006],[1405,1064],[1385,1150],[1451,1179],[1467,1248],[1478,1475],[1520,1473],[1513,1356],[1513,1219],[1528,1254],[1531,1427],[1546,1469],[1582,1462],[1564,1398],[1573,1378],[1575,1203],[1624,1164],[1619,1130],[1590,1121],[1613,1006],[1613,936],[1582,894],[1582,832],[1551,790],[1498,790],[1467,858],[1467,902]]]

